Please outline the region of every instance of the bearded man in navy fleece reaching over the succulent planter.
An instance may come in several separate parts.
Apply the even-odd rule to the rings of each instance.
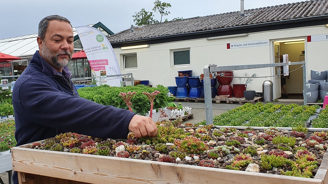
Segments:
[[[39,51],[15,82],[12,103],[17,145],[40,141],[57,134],[75,132],[101,138],[155,136],[150,117],[125,109],[104,106],[81,98],[66,66],[72,58],[74,35],[71,22],[50,15],[39,23]],[[18,184],[17,172],[13,175]]]

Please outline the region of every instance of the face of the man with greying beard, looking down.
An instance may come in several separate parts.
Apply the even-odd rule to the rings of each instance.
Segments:
[[[38,38],[40,55],[56,69],[62,69],[72,58],[73,30],[65,21],[51,20],[44,40]]]

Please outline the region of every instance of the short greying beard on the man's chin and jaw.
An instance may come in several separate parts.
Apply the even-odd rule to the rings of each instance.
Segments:
[[[44,57],[45,60],[53,63],[56,67],[58,68],[64,68],[66,65],[68,65],[68,63],[71,61],[72,59],[72,54],[71,52],[68,52],[68,51],[63,51],[63,52],[60,52],[60,53],[53,53],[52,51],[50,51],[48,49],[48,47],[46,46],[46,44],[43,45],[43,48],[42,48],[42,56]],[[62,55],[62,54],[66,54],[68,55],[69,59],[67,60],[66,58],[63,58],[62,61],[60,61],[58,59],[58,56],[59,55]]]

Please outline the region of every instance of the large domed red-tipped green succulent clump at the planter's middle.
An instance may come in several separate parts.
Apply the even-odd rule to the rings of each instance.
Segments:
[[[187,154],[200,154],[206,150],[208,150],[207,145],[199,138],[193,136],[183,138],[178,146],[178,151],[185,152]]]

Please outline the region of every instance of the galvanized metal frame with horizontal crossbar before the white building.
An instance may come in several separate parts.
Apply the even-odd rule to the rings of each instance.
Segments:
[[[305,61],[301,62],[289,62],[289,63],[268,63],[268,64],[255,64],[255,65],[230,65],[230,66],[217,66],[215,64],[205,65],[204,67],[204,94],[205,94],[205,112],[206,112],[206,124],[213,124],[213,107],[212,107],[212,92],[211,92],[211,78],[210,72],[223,72],[233,70],[245,70],[255,68],[268,68],[268,67],[280,67],[286,65],[303,65],[303,98],[304,105],[306,101],[306,68]]]

